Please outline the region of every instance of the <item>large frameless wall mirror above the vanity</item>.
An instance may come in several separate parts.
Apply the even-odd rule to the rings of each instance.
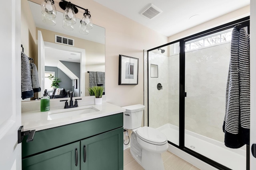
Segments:
[[[41,92],[35,93],[34,98],[26,100],[40,98],[44,89],[47,89],[52,97],[52,82],[48,78],[50,74],[61,81],[59,91],[55,92],[54,98],[67,97],[66,93],[60,92],[62,89],[66,92],[73,91],[74,97],[90,96],[87,89],[92,86],[90,80],[93,79],[93,75],[100,75],[100,84],[105,86],[105,28],[94,25],[88,35],[81,34],[79,33],[80,19],[77,18],[74,30],[68,31],[62,27],[63,13],[61,12],[57,12],[56,25],[47,25],[42,21],[38,0],[21,0],[21,2],[22,45],[24,53],[34,59],[41,82]],[[58,6],[58,2],[55,2],[55,6]],[[42,34],[43,45],[39,42],[42,41],[38,38],[40,34]],[[61,37],[73,43],[66,45],[56,42],[56,39]],[[42,46],[44,56],[40,54],[42,49],[38,46]]]

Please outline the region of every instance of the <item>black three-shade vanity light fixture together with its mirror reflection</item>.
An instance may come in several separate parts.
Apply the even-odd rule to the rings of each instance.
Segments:
[[[80,21],[79,32],[84,35],[89,33],[88,29],[92,29],[93,23],[91,14],[88,9],[72,4],[71,2],[68,2],[66,0],[61,0],[61,2],[59,2],[59,6],[60,8],[62,8],[62,10],[64,10],[62,20],[62,27],[64,29],[70,31],[74,29],[74,24],[76,23],[76,14],[78,13],[78,8],[80,8],[85,12],[82,20]],[[42,20],[44,21],[44,23],[47,23],[48,25],[56,25],[55,18],[57,12],[54,6],[54,0],[43,0],[41,4],[41,9],[43,14]]]

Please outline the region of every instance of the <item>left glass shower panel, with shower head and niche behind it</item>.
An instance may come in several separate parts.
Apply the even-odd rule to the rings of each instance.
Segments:
[[[179,145],[179,43],[161,49],[148,52],[148,122]]]

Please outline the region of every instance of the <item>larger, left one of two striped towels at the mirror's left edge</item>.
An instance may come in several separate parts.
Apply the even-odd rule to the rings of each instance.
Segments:
[[[22,99],[34,97],[31,79],[31,67],[28,56],[21,52],[21,97]]]

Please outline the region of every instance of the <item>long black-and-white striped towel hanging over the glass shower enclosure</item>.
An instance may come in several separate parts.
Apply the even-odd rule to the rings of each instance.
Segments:
[[[244,28],[232,31],[223,132],[226,147],[249,145],[250,36]]]

